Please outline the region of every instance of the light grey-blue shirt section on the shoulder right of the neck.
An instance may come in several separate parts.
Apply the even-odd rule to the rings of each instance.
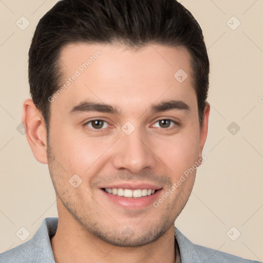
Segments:
[[[175,238],[180,250],[181,261],[184,263],[257,263],[232,254],[221,252],[215,249],[196,245],[186,238],[175,228]]]

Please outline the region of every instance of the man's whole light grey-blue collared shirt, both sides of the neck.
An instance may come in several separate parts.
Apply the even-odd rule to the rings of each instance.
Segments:
[[[34,236],[20,246],[0,254],[1,263],[55,263],[50,238],[58,228],[58,218],[45,218]],[[195,245],[177,228],[175,238],[179,246],[181,263],[259,263],[228,253]],[[163,260],[165,262],[165,259]],[[161,262],[160,262],[161,263]]]

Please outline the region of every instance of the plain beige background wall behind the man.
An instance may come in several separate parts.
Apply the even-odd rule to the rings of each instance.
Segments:
[[[55,2],[0,1],[0,252],[23,243],[16,236],[21,227],[30,232],[28,240],[45,217],[57,216],[48,168],[34,159],[18,126],[23,101],[29,97],[27,52],[32,34]],[[203,152],[207,160],[198,168],[193,193],[175,224],[195,243],[263,260],[263,1],[182,4],[204,32],[212,108]],[[18,21],[26,26],[22,16],[30,22],[24,30],[16,25]],[[233,30],[238,21],[240,26]],[[239,131],[231,126],[229,132],[232,122]],[[232,239],[241,233],[235,241],[227,235],[232,227],[236,228],[230,231]]]

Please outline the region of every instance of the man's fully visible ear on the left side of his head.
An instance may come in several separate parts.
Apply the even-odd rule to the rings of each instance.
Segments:
[[[22,122],[35,159],[47,164],[47,131],[44,118],[31,99],[23,104]]]

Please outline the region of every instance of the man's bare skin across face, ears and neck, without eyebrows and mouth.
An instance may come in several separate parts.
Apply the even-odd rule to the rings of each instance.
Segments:
[[[160,189],[158,201],[200,159],[210,105],[200,127],[191,58],[182,47],[69,44],[61,52],[61,84],[98,49],[98,59],[50,103],[48,143],[41,112],[32,100],[24,103],[28,142],[35,158],[48,164],[57,195],[59,224],[51,239],[55,261],[175,262],[174,221],[191,194],[196,171],[158,208],[153,203],[123,208],[101,188],[154,184]],[[182,83],[174,78],[179,69],[188,75]],[[153,104],[171,99],[183,101],[189,110],[151,111]],[[120,112],[69,113],[85,100]],[[91,122],[85,124],[94,119],[106,121],[99,132]],[[167,119],[174,122],[165,130],[159,121]],[[134,127],[130,135],[121,129],[127,121]],[[74,174],[82,179],[76,188],[69,183]],[[127,229],[133,235],[123,234]]]

